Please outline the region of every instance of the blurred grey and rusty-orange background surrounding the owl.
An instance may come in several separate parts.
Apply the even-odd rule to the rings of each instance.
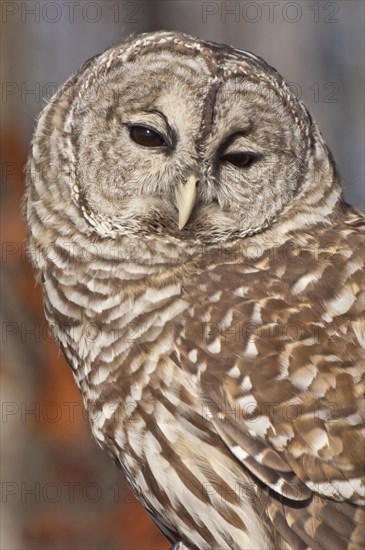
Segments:
[[[169,545],[91,439],[25,255],[23,165],[34,119],[89,57],[178,30],[264,57],[310,108],[346,200],[364,207],[364,2],[5,1],[1,6],[2,550]]]

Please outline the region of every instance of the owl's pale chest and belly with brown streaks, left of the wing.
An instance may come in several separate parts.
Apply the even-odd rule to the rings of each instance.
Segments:
[[[197,467],[193,475],[190,470],[191,464],[200,465],[201,455],[219,464],[226,454],[213,436],[210,439],[196,381],[173,360],[191,305],[181,298],[181,285],[175,280],[152,283],[136,285],[135,292],[128,285],[109,285],[108,292],[95,280],[93,291],[84,295],[81,285],[58,285],[54,292],[46,282],[47,315],[73,367],[93,434],[138,498],[167,531],[178,527],[186,536],[191,528],[180,520],[179,510],[198,506],[193,547],[211,548],[211,539],[224,547],[216,527],[219,510],[207,506],[204,497],[207,466]],[[180,459],[181,449],[187,450],[186,462]],[[215,480],[214,466],[208,469],[209,479]],[[242,472],[233,466],[229,485],[235,487],[237,479],[242,479]],[[251,511],[244,507],[242,515],[247,514]],[[198,534],[201,521],[209,536]],[[229,522],[225,528],[228,534]],[[258,547],[267,547],[263,539],[260,533]],[[251,535],[238,533],[236,547],[251,548]]]

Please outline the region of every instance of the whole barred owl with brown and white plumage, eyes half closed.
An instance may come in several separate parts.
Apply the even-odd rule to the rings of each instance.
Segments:
[[[46,317],[174,548],[361,548],[364,219],[277,71],[132,37],[55,94],[27,172]]]

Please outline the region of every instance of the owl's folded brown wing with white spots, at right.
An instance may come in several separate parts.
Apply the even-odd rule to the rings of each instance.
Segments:
[[[206,415],[267,488],[268,513],[294,548],[364,540],[354,506],[364,503],[363,241],[349,227],[339,235],[335,249],[334,234],[320,235],[296,262],[209,266],[189,287],[177,343]]]

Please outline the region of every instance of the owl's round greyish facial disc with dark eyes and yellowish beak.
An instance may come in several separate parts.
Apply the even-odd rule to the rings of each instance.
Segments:
[[[186,37],[184,47],[129,47],[108,70],[96,59],[102,74],[74,102],[87,209],[123,234],[178,239],[271,223],[299,189],[307,151],[302,108],[277,73]]]

